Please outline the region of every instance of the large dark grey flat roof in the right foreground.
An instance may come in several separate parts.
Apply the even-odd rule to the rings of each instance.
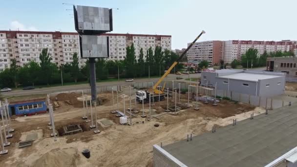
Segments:
[[[263,167],[297,146],[297,104],[163,148],[188,167]]]

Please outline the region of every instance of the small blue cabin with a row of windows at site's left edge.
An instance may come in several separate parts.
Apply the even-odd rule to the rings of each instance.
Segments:
[[[34,115],[46,112],[45,98],[10,102],[9,114],[16,116]]]

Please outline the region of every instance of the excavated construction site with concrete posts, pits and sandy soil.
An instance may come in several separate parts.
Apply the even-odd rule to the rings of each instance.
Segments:
[[[51,137],[53,130],[48,125],[48,113],[13,117],[11,127],[15,132],[9,139],[10,146],[5,147],[9,150],[8,154],[0,156],[1,166],[151,167],[154,144],[168,145],[185,139],[186,134],[198,135],[211,130],[213,125],[229,125],[233,119],[240,121],[249,118],[251,113],[265,112],[259,107],[228,100],[212,105],[212,102],[197,103],[193,98],[189,99],[191,106],[187,106],[189,94],[179,94],[179,91],[176,99],[173,93],[173,97],[169,95],[164,101],[150,102],[150,107],[149,103],[142,106],[139,102],[135,106],[135,94],[129,96],[130,89],[126,86],[122,92],[99,93],[97,96],[101,105],[92,106],[92,115],[88,94],[83,97],[78,93],[60,93],[50,97],[56,137]],[[167,99],[169,107],[173,108],[170,112],[166,112]],[[130,101],[132,112],[129,112]],[[175,104],[177,111],[174,110]],[[118,111],[127,116],[127,122],[120,123]],[[141,117],[143,114],[146,117]],[[88,122],[90,119],[93,120]],[[96,127],[91,128],[96,121],[100,133],[94,133]],[[67,130],[71,133],[66,133]],[[20,148],[20,143],[25,141],[32,143]],[[82,154],[85,149],[90,151],[89,159]]]

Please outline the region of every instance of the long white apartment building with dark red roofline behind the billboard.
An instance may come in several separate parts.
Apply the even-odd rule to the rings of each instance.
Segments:
[[[152,47],[161,46],[162,50],[171,50],[169,35],[139,35],[139,34],[104,34],[109,37],[109,60],[124,60],[126,47],[132,43],[135,46],[136,59],[140,49],[146,51]],[[39,55],[43,48],[48,48],[52,63],[58,66],[71,63],[73,53],[78,53],[79,66],[85,65],[86,59],[80,56],[78,33],[73,32],[35,32],[35,31],[0,31],[0,71],[10,67],[12,59],[17,65],[24,66],[30,61],[40,63]]]

